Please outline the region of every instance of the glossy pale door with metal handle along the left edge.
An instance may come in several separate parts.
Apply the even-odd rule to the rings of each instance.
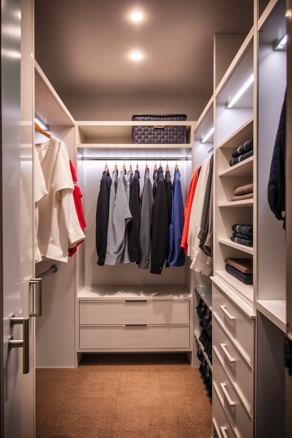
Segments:
[[[1,436],[32,438],[35,319],[29,316],[32,310],[29,281],[34,273],[32,1],[4,0],[1,6]]]

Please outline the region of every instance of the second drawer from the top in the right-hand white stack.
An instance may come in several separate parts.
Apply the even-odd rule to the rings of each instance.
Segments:
[[[225,370],[234,386],[242,397],[246,407],[253,417],[254,370],[232,342],[214,315],[213,320],[213,349],[220,357]]]

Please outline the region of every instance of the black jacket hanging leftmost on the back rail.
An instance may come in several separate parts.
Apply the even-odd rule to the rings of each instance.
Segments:
[[[97,261],[99,266],[105,264],[106,258],[107,230],[109,226],[109,191],[111,185],[112,178],[107,175],[105,170],[100,181],[95,216],[95,244],[96,252],[99,256]]]

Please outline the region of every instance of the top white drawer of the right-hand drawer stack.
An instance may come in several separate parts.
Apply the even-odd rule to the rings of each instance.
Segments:
[[[213,283],[213,314],[254,367],[254,320],[249,318],[233,301]]]

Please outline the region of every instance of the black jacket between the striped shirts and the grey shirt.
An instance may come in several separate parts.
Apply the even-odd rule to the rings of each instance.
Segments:
[[[128,251],[131,261],[140,260],[140,223],[141,223],[141,211],[140,211],[140,173],[139,170],[135,170],[133,182],[131,185],[130,193],[130,212],[132,219],[128,223]]]

